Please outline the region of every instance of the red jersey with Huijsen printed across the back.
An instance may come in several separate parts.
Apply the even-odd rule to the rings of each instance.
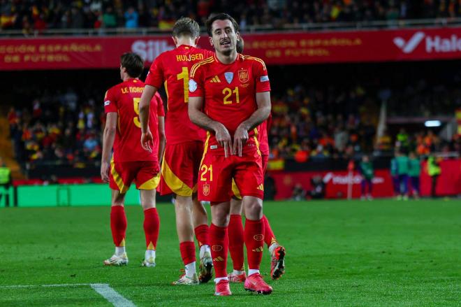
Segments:
[[[189,120],[189,71],[193,64],[211,57],[213,52],[188,45],[163,52],[147,74],[146,84],[160,88],[165,84],[168,95],[165,134],[168,144],[203,141],[201,129]]]

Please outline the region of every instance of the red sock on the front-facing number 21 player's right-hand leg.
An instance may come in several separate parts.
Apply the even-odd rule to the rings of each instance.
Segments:
[[[248,269],[258,270],[263,258],[264,222],[263,219],[245,221],[245,245],[247,245]]]

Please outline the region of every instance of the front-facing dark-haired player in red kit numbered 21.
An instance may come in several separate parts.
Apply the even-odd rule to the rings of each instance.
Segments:
[[[198,198],[212,204],[210,245],[216,278],[215,295],[231,295],[226,273],[232,180],[242,196],[247,218],[248,277],[244,288],[270,294],[259,273],[263,255],[263,165],[259,124],[270,114],[270,83],[263,60],[240,55],[238,24],[221,13],[207,20],[213,57],[195,64],[189,80],[189,117],[207,130],[200,163]]]

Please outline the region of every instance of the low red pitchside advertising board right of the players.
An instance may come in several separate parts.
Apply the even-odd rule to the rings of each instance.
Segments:
[[[422,166],[420,176],[421,195],[430,196],[432,179],[427,175],[425,163]],[[446,160],[440,163],[441,175],[437,180],[436,192],[439,196],[461,194],[461,159]],[[305,171],[305,172],[284,172],[274,171],[270,176],[275,180],[277,192],[275,199],[290,199],[293,187],[300,184],[306,191],[312,190],[311,179],[314,176],[321,176],[325,183],[325,197],[329,199],[344,199],[347,197],[347,187],[352,185],[352,197],[360,197],[360,183],[362,176],[354,172],[349,176],[347,171]],[[411,185],[409,185],[411,191]],[[393,197],[393,180],[388,170],[377,170],[373,179],[373,197]]]

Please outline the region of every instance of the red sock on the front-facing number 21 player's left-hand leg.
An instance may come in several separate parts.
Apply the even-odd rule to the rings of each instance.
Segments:
[[[210,226],[210,245],[213,258],[214,274],[216,278],[226,277],[227,264],[227,227]]]

